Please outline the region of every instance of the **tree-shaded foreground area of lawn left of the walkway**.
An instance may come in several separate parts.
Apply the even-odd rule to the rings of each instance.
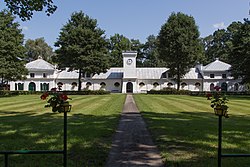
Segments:
[[[0,150],[63,150],[63,114],[0,111]],[[6,116],[3,116],[6,115]],[[68,116],[68,166],[104,166],[119,115]],[[62,166],[62,155],[11,155],[10,166]],[[0,166],[4,163],[0,155]]]

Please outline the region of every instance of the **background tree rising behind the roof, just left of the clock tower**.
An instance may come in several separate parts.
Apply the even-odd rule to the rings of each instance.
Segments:
[[[122,67],[122,51],[131,50],[131,42],[123,35],[115,34],[108,39],[111,67]]]

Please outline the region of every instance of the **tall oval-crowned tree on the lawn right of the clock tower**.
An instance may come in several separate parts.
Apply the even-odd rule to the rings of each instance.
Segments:
[[[192,16],[172,13],[158,35],[159,57],[169,72],[176,76],[177,89],[181,77],[202,57],[198,27]]]

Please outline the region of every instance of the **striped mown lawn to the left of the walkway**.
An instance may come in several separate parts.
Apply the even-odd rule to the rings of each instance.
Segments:
[[[70,96],[68,166],[104,166],[125,95]],[[38,95],[0,98],[0,150],[62,150],[63,114]],[[11,155],[9,166],[62,166],[62,155]],[[0,166],[4,156],[0,155]]]

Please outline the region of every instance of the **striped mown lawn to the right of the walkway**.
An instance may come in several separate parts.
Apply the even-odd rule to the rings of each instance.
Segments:
[[[205,97],[134,95],[168,167],[217,166],[218,117]],[[250,98],[229,97],[222,153],[250,154]],[[222,166],[248,167],[250,157],[223,158]]]

